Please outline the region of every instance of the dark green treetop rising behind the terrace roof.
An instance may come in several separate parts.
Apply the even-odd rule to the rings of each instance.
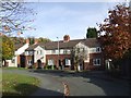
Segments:
[[[86,38],[97,38],[97,29],[95,27],[88,27]]]

